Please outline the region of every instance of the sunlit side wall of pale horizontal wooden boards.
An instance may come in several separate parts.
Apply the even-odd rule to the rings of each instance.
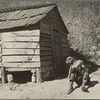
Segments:
[[[3,67],[40,67],[40,30],[2,34]]]

